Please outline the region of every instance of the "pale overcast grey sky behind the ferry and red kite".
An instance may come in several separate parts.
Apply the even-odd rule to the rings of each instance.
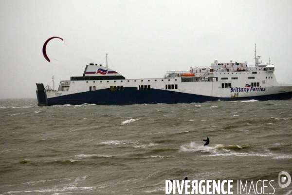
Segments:
[[[162,78],[233,61],[271,58],[292,83],[292,0],[0,0],[0,98],[36,98],[105,65],[126,78]],[[42,46],[50,37],[47,55]]]

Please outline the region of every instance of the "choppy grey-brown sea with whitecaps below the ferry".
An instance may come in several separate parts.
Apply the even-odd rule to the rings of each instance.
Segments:
[[[163,195],[165,180],[186,176],[233,180],[234,194],[240,181],[257,190],[242,194],[263,185],[265,194],[292,194],[292,184],[278,185],[281,171],[292,175],[292,100],[50,107],[0,100],[0,195]]]

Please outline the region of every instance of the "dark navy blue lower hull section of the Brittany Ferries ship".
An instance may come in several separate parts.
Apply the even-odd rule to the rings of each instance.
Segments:
[[[38,94],[37,94],[37,98]],[[39,106],[51,106],[62,104],[101,104],[101,105],[128,105],[128,104],[155,104],[155,103],[192,103],[192,102],[206,102],[206,101],[236,101],[255,99],[259,101],[264,100],[285,100],[292,98],[292,92],[254,96],[244,98],[217,98],[210,96],[201,96],[194,94],[186,94],[168,90],[137,90],[137,88],[124,88],[123,91],[110,91],[109,89],[102,89],[97,91],[89,91],[76,93],[65,96],[58,96],[55,98],[46,98],[46,103],[38,102]]]

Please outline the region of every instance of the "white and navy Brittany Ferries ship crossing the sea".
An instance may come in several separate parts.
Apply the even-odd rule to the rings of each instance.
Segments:
[[[235,100],[285,100],[292,98],[292,84],[277,82],[274,65],[247,62],[190,67],[170,71],[163,78],[126,79],[121,74],[94,63],[86,65],[83,76],[61,80],[58,90],[37,83],[38,106],[57,104],[155,104]]]

